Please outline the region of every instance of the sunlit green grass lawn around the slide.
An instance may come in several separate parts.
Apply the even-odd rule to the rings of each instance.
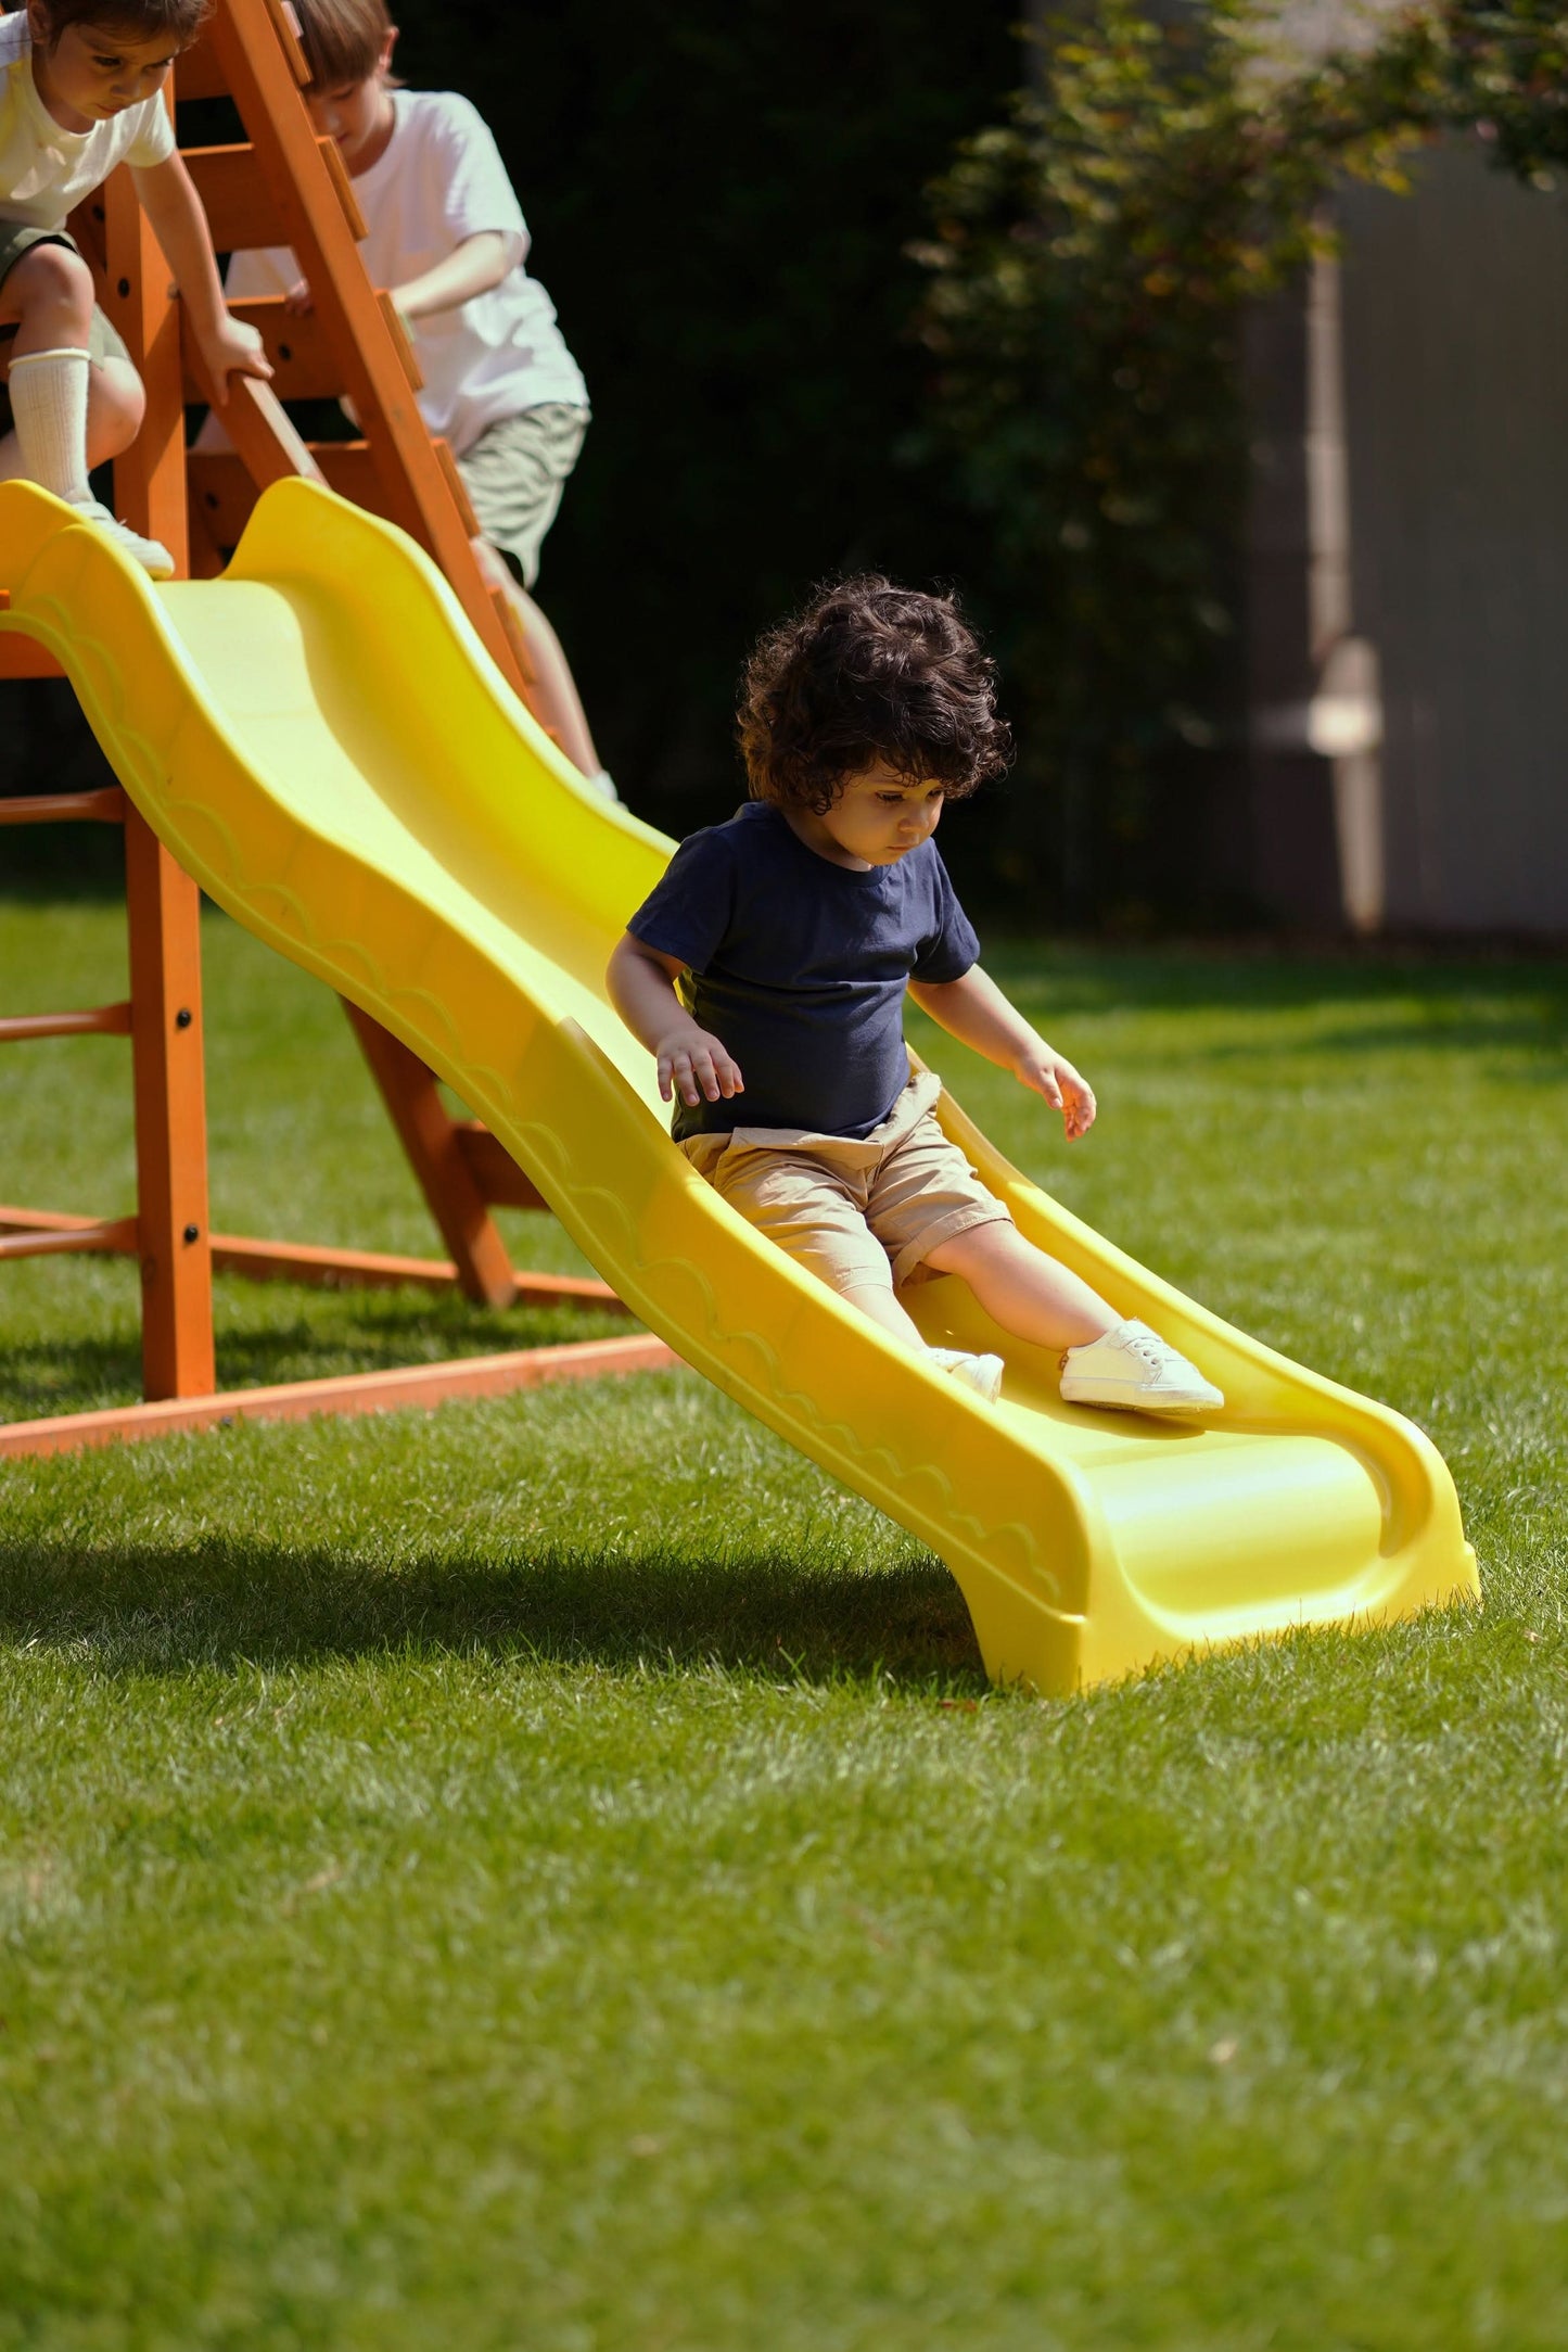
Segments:
[[[433,1251],[331,1000],[207,941],[214,1223]],[[7,1011],[120,957],[0,908]],[[922,1049],[1432,1430],[1486,1611],[994,1693],[689,1374],[0,1465],[0,2345],[1568,2343],[1568,967],[992,967],[1095,1136]],[[129,1207],[127,1096],[7,1051],[0,1197]],[[223,1381],[517,1329],[219,1294]],[[125,1265],[0,1334],[7,1414],[134,1395]]]

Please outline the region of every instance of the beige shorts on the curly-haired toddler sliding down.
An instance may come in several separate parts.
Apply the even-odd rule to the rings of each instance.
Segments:
[[[957,1143],[936,1124],[940,1080],[919,1070],[865,1141],[792,1127],[686,1136],[698,1176],[835,1291],[884,1291],[922,1275],[943,1242],[1011,1225]]]

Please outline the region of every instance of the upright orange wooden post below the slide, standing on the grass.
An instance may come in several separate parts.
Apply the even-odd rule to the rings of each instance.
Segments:
[[[202,1082],[202,896],[136,809],[125,811],[136,1084],[141,1378],[148,1397],[207,1397],[212,1235]]]

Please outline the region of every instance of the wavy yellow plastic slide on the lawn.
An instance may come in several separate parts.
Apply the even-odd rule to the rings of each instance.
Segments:
[[[994,1348],[980,1404],[762,1242],[668,1138],[604,962],[670,844],[604,807],[447,583],[329,492],[266,492],[221,581],[155,588],[0,487],[5,628],[66,666],[136,807],[242,924],[411,1044],[682,1357],[957,1576],[997,1679],[1070,1691],[1178,1651],[1474,1595],[1453,1482],[1399,1414],[1145,1272],[943,1124],[1023,1232],[1225,1388],[1213,1423],[1060,1402],[954,1279],[929,1338]]]

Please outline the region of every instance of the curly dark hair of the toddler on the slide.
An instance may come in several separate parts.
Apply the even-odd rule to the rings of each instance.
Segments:
[[[752,800],[816,816],[877,762],[961,800],[1013,755],[997,663],[957,597],[893,588],[879,572],[818,588],[757,642],[738,736]]]

